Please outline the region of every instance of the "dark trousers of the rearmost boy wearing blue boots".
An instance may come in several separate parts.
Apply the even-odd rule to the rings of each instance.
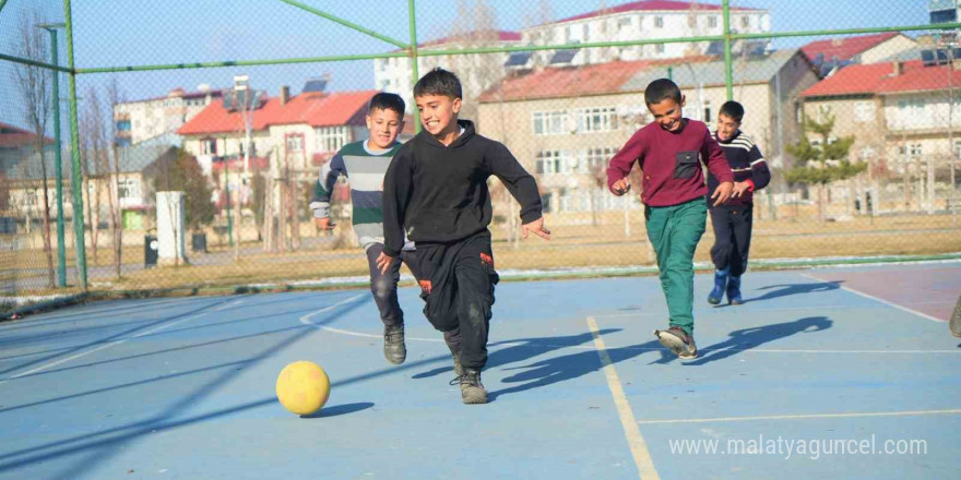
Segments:
[[[747,271],[750,252],[750,230],[754,205],[721,205],[711,208],[714,247],[711,260],[714,267],[731,267],[731,276],[739,277]]]

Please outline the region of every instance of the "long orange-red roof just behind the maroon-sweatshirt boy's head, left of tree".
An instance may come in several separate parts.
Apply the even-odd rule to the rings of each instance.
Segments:
[[[618,93],[636,73],[650,67],[714,60],[713,57],[638,60],[593,63],[576,68],[547,68],[536,73],[508,79],[501,86],[482,94],[477,101],[510,101],[534,98],[577,97]]]

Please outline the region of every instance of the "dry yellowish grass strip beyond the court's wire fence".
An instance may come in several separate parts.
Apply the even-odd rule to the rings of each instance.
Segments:
[[[594,225],[596,220],[596,225]],[[506,227],[493,229],[495,257],[499,269],[559,268],[578,266],[653,265],[641,212],[630,212],[630,232],[626,235],[624,213],[592,217],[590,214],[548,216],[553,241],[539,238],[509,243]],[[961,224],[961,221],[959,221]],[[708,261],[713,243],[710,224],[696,253]],[[256,247],[250,244],[249,247]],[[214,251],[226,249],[215,248]],[[858,217],[844,223],[755,219],[751,259],[861,256],[881,254],[936,254],[961,252],[961,225],[950,216]],[[124,249],[124,264],[143,262],[143,247]],[[16,275],[11,271],[46,268],[41,250],[0,252],[3,274],[0,281]],[[112,264],[112,252],[100,249],[91,265]],[[69,264],[73,263],[70,252]],[[8,268],[7,265],[13,265]],[[286,253],[256,253],[223,265],[188,265],[138,271],[121,280],[91,278],[95,289],[164,289],[250,284],[286,283],[341,276],[364,277],[367,261],[359,248],[305,249]],[[37,275],[36,273],[33,275]],[[31,290],[28,293],[38,293]],[[27,292],[17,292],[27,293]]]

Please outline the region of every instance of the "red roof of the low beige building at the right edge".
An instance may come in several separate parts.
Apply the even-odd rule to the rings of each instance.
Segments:
[[[802,96],[939,91],[950,88],[950,83],[954,81],[949,79],[949,65],[924,67],[921,60],[902,62],[902,65],[900,75],[894,75],[893,62],[847,65],[804,91]],[[961,72],[951,73],[961,80]]]

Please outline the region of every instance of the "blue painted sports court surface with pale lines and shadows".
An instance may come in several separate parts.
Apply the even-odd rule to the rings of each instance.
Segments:
[[[679,361],[656,277],[502,283],[484,384],[404,288],[390,365],[369,291],[123,300],[0,324],[2,479],[949,479],[961,262],[751,272]],[[321,364],[327,406],[274,382]]]

